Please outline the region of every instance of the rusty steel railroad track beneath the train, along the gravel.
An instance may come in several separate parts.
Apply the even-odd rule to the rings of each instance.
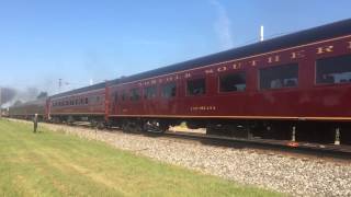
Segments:
[[[89,124],[78,123],[75,126],[90,127]],[[114,127],[109,131],[121,131],[120,128]],[[322,158],[335,158],[342,160],[351,160],[351,146],[344,144],[320,144],[310,142],[294,142],[287,140],[271,140],[271,139],[242,139],[226,136],[205,135],[188,131],[166,131],[163,134],[157,132],[131,132],[145,135],[149,137],[168,137],[176,139],[200,141],[208,146],[222,146],[233,148],[250,148],[262,151],[280,151],[284,153],[294,153],[301,155],[313,155]]]

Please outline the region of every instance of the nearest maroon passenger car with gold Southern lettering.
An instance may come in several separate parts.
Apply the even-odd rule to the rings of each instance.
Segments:
[[[228,130],[239,137],[350,142],[351,20],[120,79],[123,127]],[[314,130],[314,131],[312,131]]]

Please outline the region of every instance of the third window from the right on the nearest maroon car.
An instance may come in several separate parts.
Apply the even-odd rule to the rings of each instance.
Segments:
[[[238,92],[246,89],[246,73],[229,73],[219,77],[219,92]]]

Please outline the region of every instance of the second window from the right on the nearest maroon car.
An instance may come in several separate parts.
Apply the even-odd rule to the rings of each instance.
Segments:
[[[260,89],[297,86],[298,63],[288,63],[260,69]]]

